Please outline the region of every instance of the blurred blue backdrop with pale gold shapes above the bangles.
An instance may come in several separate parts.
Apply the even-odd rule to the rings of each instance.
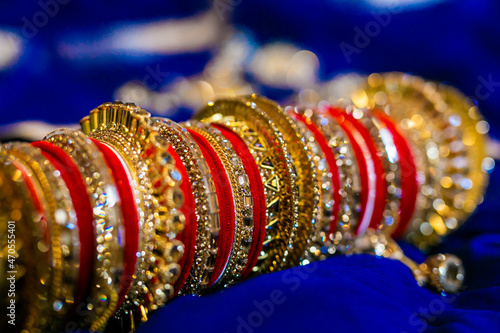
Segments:
[[[0,133],[40,138],[11,124],[75,124],[115,99],[185,120],[216,96],[403,71],[458,87],[498,137],[499,18],[494,0],[3,0]]]

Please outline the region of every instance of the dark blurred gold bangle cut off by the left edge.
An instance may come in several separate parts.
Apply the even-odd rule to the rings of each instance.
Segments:
[[[43,297],[49,293],[49,286],[41,281],[50,283],[47,265],[50,244],[43,237],[45,220],[33,204],[21,171],[8,159],[6,150],[10,148],[9,144],[0,147],[0,234],[3,235],[0,239],[3,270],[0,305],[12,316],[4,319],[0,328],[8,332],[12,329],[8,321],[15,318],[20,330],[35,332],[40,330],[41,309],[47,304]],[[12,279],[15,279],[16,290],[13,296],[9,295]],[[12,300],[15,312],[8,309]]]

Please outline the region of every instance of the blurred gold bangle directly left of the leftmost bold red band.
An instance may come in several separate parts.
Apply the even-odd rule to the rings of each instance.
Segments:
[[[72,308],[78,279],[79,238],[76,229],[75,211],[68,188],[61,174],[42,154],[41,150],[28,144],[13,144],[8,151],[13,163],[19,163],[19,169],[30,170],[31,176],[25,173],[27,183],[36,179],[40,191],[38,197],[41,211],[50,229],[50,261],[51,277],[47,306],[44,311],[52,318],[40,318],[40,326],[45,329],[57,329],[62,325]],[[26,172],[26,171],[25,171]],[[29,179],[28,179],[29,178]],[[46,230],[48,230],[46,229]],[[42,277],[43,278],[43,277]]]

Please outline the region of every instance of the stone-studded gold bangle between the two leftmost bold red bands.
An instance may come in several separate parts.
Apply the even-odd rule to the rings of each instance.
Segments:
[[[123,271],[123,249],[119,242],[123,232],[116,186],[101,152],[82,132],[57,130],[44,141],[62,148],[73,159],[87,185],[94,218],[96,275],[91,297],[87,299],[89,311],[83,320],[96,331],[103,328],[116,309]]]

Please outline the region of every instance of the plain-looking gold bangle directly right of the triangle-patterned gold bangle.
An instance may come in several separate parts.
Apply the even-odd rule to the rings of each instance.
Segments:
[[[308,239],[313,230],[313,225],[318,219],[319,182],[316,172],[317,166],[313,160],[310,146],[303,141],[303,131],[296,126],[290,116],[278,104],[257,95],[245,97],[244,100],[255,103],[282,133],[297,173],[297,186],[299,189],[299,198],[295,202],[299,207],[297,237],[296,239],[290,239],[289,249],[287,250],[289,255],[282,265],[283,268],[293,267],[299,264],[300,259],[306,253]],[[285,257],[287,257],[286,254]]]

